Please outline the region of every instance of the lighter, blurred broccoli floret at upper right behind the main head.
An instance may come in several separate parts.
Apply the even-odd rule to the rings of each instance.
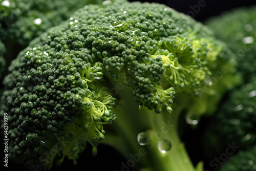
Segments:
[[[236,56],[237,69],[247,82],[255,76],[256,7],[234,9],[207,20],[216,37],[228,43]]]

